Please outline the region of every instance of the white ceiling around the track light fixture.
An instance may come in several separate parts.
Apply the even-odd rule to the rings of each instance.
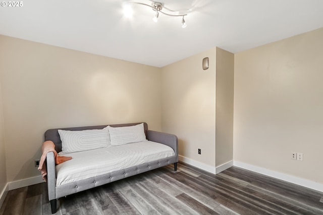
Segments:
[[[323,27],[322,0],[160,0],[164,12],[188,13],[186,28],[163,14],[154,23],[154,11],[140,5],[128,19],[124,2],[153,3],[23,1],[0,7],[0,34],[162,67],[216,46],[237,53]]]

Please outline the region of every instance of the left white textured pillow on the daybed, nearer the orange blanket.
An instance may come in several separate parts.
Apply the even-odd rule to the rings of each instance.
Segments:
[[[91,130],[59,130],[62,152],[59,155],[111,147],[109,128]]]

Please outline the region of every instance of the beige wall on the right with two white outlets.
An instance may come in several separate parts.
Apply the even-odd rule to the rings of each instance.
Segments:
[[[323,183],[322,38],[320,28],[235,54],[235,161]]]

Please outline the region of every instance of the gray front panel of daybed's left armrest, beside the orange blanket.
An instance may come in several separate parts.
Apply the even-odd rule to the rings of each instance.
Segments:
[[[53,152],[49,152],[46,155],[47,164],[47,187],[49,200],[56,199],[56,169],[55,169],[55,157]]]

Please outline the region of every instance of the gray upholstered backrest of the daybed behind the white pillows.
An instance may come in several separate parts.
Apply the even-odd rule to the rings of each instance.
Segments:
[[[116,124],[116,125],[110,125],[111,127],[123,127],[123,126],[131,126],[131,125],[137,125],[142,122],[137,123],[127,123],[127,124]],[[45,141],[51,140],[55,144],[55,150],[57,153],[62,151],[62,140],[60,138],[59,129],[60,130],[88,130],[88,129],[102,129],[106,127],[107,125],[94,125],[94,126],[83,126],[83,127],[71,127],[71,128],[54,128],[54,129],[48,129],[45,132]],[[148,125],[146,122],[143,123],[145,134],[147,137],[147,130]]]

